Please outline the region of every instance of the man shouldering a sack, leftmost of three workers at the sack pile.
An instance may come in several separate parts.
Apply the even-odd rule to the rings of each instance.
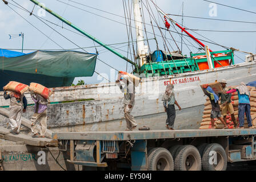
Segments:
[[[218,118],[224,125],[224,129],[228,129],[229,127],[227,127],[226,122],[223,120],[223,118],[221,118],[221,108],[219,107],[218,103],[219,98],[215,98],[217,95],[213,92],[212,89],[207,89],[208,87],[208,84],[203,85],[203,92],[210,98],[211,102],[211,129],[214,129],[214,118]],[[211,90],[211,92],[209,90]]]

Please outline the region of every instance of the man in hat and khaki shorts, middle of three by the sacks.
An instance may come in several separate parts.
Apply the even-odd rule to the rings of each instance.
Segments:
[[[222,79],[220,81],[222,88],[227,92],[230,89],[226,88],[227,81],[225,79]],[[227,123],[227,111],[231,114],[231,119],[234,123],[234,126],[237,127],[237,124],[235,123],[235,115],[234,115],[234,107],[231,103],[231,93],[219,93],[219,97],[221,97],[221,106],[222,106],[222,115],[224,121]]]

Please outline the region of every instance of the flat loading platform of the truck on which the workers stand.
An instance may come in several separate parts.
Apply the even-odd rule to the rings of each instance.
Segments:
[[[256,135],[256,129],[53,132],[52,138],[66,140],[142,140],[246,135]]]

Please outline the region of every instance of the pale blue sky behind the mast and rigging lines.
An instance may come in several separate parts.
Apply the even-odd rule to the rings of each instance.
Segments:
[[[7,0],[7,1],[15,5],[13,1],[11,0]],[[34,4],[29,0],[14,0],[14,1],[19,3],[19,5],[22,5],[23,7],[25,7],[30,11],[34,7]],[[73,5],[73,6],[78,6],[83,10],[90,11],[91,13],[104,16],[108,19],[102,18],[97,15],[93,15],[86,11],[75,9],[74,7],[68,6],[56,0],[42,0],[40,2],[45,3],[45,5],[49,7],[51,10],[55,11],[59,15],[62,15],[67,20],[70,20],[70,22],[82,28],[89,34],[95,36],[97,39],[101,40],[103,43],[113,44],[113,43],[127,42],[128,39],[127,39],[126,26],[121,24],[121,23],[125,23],[124,18],[107,14],[102,11],[90,9],[89,7],[77,5],[68,0],[60,0],[60,1],[69,3],[70,5]],[[243,0],[243,1],[213,0],[213,1],[218,3],[223,3],[225,5],[239,7],[241,9],[245,9],[249,11],[256,10],[256,1],[252,1],[252,0],[251,1],[249,0]],[[110,0],[110,1],[76,0],[76,2],[83,3],[88,6],[95,7],[97,9],[109,11],[113,14],[117,14],[121,16],[124,15],[123,3],[121,0]],[[128,1],[126,0],[126,2]],[[146,0],[143,0],[143,2],[146,3]],[[246,22],[256,22],[255,20],[256,14],[247,13],[245,11],[240,11],[235,9],[230,9],[229,7],[223,7],[220,5],[217,5],[217,16],[211,17],[209,15],[209,11],[211,10],[211,8],[209,7],[210,2],[205,2],[202,0],[157,0],[156,2],[157,2],[157,5],[163,11],[169,14],[181,15],[182,2],[184,2],[184,15],[187,15],[187,16],[200,16],[205,18],[231,19],[231,20],[241,20]],[[21,38],[9,39],[9,34],[18,34],[19,32],[24,32],[25,34],[24,48],[25,49],[61,49],[59,46],[57,46],[57,44],[53,43],[51,40],[46,38],[45,35],[43,35],[41,32],[36,30],[30,24],[28,24],[19,15],[15,14],[14,11],[11,10],[6,5],[4,5],[2,1],[0,3],[1,3],[0,4],[1,5],[0,6],[0,35],[1,35],[0,47],[1,48],[7,48],[7,49],[21,48],[21,44],[22,44]],[[150,5],[154,11],[154,15],[158,20],[159,17],[155,12],[154,6],[152,5],[152,3],[150,3]],[[30,16],[29,13],[26,13],[25,11],[17,9],[17,7],[14,7],[12,5],[10,5],[10,7],[16,10],[19,14],[21,14],[24,18],[26,18],[30,23],[34,24],[34,26],[39,28],[39,30],[43,31],[47,36],[50,36],[51,39],[53,39],[63,48],[65,49],[78,48],[73,43],[69,42],[68,40],[66,40],[65,38],[63,38],[62,36],[54,32],[53,30],[51,30],[51,28],[47,27],[45,24],[40,22],[34,16]],[[39,11],[38,7],[35,7],[33,13],[37,14],[38,11]],[[146,23],[150,23],[149,15],[146,12],[145,8],[144,8],[144,12],[145,12]],[[43,18],[62,26],[62,22],[57,18],[55,18],[54,16],[50,15],[49,13],[46,13],[46,16]],[[179,16],[171,16],[171,18],[173,18],[177,22],[181,22],[181,18]],[[114,22],[113,20],[121,23]],[[158,21],[158,23],[161,27],[164,27],[163,22]],[[249,23],[220,22],[215,20],[184,18],[183,24],[186,27],[189,27],[192,29],[199,29],[199,30],[256,31],[256,24],[252,24],[252,23],[249,24]],[[65,35],[67,38],[75,42],[75,44],[78,44],[80,47],[94,46],[93,41],[88,38],[85,38],[81,35],[74,34],[73,32],[66,31],[61,27],[57,27],[52,24],[50,24],[50,26],[52,26],[55,30],[57,30],[62,35]],[[66,24],[63,24],[63,27],[69,28],[70,30],[72,30],[72,28],[68,27]],[[153,32],[150,26],[146,26],[146,28],[147,28],[147,31]],[[173,27],[171,27],[170,30],[175,31]],[[180,30],[178,31],[181,32]],[[156,34],[160,35],[160,32],[157,30],[157,28],[155,28],[155,32]],[[194,32],[191,32],[191,31],[189,32],[199,39],[205,39],[195,34]],[[239,33],[238,32],[232,32],[232,33],[203,32],[203,31],[197,31],[197,32],[205,36],[206,38],[214,40],[214,42],[221,44],[223,46],[234,47],[247,52],[253,52],[253,53],[256,52],[256,32],[250,32],[250,33],[248,32],[246,33],[244,32],[243,33],[241,32]],[[163,34],[166,34],[167,38],[171,38],[168,32],[163,31]],[[181,42],[181,38],[178,34],[172,33],[172,35],[174,36],[175,40],[177,40],[178,42]],[[153,38],[152,34],[147,34],[147,36],[149,39]],[[133,29],[133,38],[135,39],[134,29]],[[163,49],[162,38],[157,37],[157,39],[158,39],[159,48]],[[186,39],[189,40],[190,43],[193,43],[194,46],[198,47],[197,44],[194,43],[192,39],[190,38],[186,38]],[[185,42],[188,43],[186,40]],[[149,43],[150,43],[151,50],[156,49],[154,40],[149,40]],[[181,47],[180,44],[181,43],[178,43],[179,47]],[[222,47],[215,46],[213,44],[209,44],[209,43],[205,43],[205,44],[207,44],[210,47],[210,49],[214,51],[223,49]],[[95,45],[97,45],[97,43],[95,43]],[[125,44],[119,45],[119,47],[121,46],[125,46]],[[177,47],[175,47],[174,42],[171,42],[171,47],[173,47],[174,49],[177,49]],[[171,47],[169,48],[172,51]],[[127,46],[122,47],[120,49],[122,49],[122,51],[121,50],[117,50],[117,51],[127,56]],[[193,52],[198,51],[198,49],[193,47],[190,47],[190,49]],[[98,47],[97,50],[99,51],[100,59],[104,60],[107,64],[110,64],[115,69],[126,71],[125,60],[122,60],[121,58],[114,55],[113,53],[106,51],[105,48]],[[86,51],[95,53],[95,48],[86,48]],[[31,51],[24,51],[24,52],[31,52]],[[189,55],[189,52],[190,50],[185,45],[183,45],[183,54]],[[235,55],[239,56],[242,60],[245,59],[245,54],[235,53]],[[235,62],[241,63],[242,60],[239,59],[237,56],[235,56]],[[108,77],[109,80],[111,81],[114,81],[115,79],[114,75],[116,75],[116,72],[114,73],[113,71],[111,71],[110,67],[101,63],[101,61],[97,61],[95,71],[97,71],[98,73],[101,73],[105,77]],[[130,64],[127,65],[127,71],[128,72],[131,71]],[[77,82],[79,79],[80,78],[76,78],[75,82]],[[91,84],[95,82],[102,82],[103,78],[99,77],[96,73],[94,73],[93,77],[86,77],[84,78],[84,80],[87,84]]]

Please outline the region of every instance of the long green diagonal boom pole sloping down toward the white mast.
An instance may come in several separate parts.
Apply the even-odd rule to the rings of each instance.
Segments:
[[[45,9],[48,13],[54,15],[56,18],[62,20],[62,22],[66,23],[67,25],[69,25],[70,27],[75,28],[75,30],[81,32],[83,35],[87,36],[88,38],[90,38],[91,40],[97,42],[99,45],[105,47],[106,49],[108,49],[109,51],[113,52],[115,55],[121,57],[122,59],[126,60],[127,62],[129,62],[130,64],[135,65],[136,68],[138,68],[137,64],[135,64],[133,61],[129,60],[127,57],[123,56],[121,53],[115,51],[114,49],[106,46],[106,44],[102,43],[101,41],[99,41],[98,39],[96,39],[94,36],[91,36],[90,34],[88,34],[87,32],[83,31],[81,28],[75,26],[73,23],[69,22],[68,20],[66,20],[65,18],[63,18],[62,16],[58,15],[57,13],[54,13],[53,11],[51,11],[50,9],[48,9],[47,7],[43,6],[41,3],[39,3],[38,1],[35,0],[30,0],[31,2],[35,3],[35,5],[38,5],[39,7],[41,7],[42,9]]]

